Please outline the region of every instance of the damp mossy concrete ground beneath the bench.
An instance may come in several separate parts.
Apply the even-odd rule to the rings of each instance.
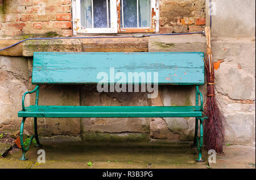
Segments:
[[[255,168],[255,146],[225,146],[225,155],[217,156],[216,164],[196,162],[197,150],[191,143],[135,143],[135,144],[68,144],[31,147],[27,161],[20,161],[18,150],[0,158],[0,168],[104,168],[104,169],[207,169],[207,168]],[[46,152],[46,163],[38,163],[39,149]],[[92,166],[88,166],[88,162]]]

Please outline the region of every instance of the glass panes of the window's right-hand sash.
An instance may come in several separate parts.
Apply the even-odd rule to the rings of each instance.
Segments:
[[[150,0],[121,0],[121,28],[151,27]],[[138,16],[138,19],[137,19]]]

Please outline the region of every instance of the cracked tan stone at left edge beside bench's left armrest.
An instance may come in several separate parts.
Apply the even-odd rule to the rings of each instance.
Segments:
[[[22,95],[28,91],[28,66],[24,57],[0,56],[0,129],[19,128]],[[29,104],[30,97],[26,97]]]

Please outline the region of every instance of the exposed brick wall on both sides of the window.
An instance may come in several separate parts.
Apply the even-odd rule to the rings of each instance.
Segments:
[[[203,30],[204,0],[159,0],[159,5],[160,33]],[[72,36],[71,20],[71,0],[0,0],[0,36]]]

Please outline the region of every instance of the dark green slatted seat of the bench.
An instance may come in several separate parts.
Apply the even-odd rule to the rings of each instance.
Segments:
[[[29,106],[19,117],[153,118],[202,117],[200,106]]]

